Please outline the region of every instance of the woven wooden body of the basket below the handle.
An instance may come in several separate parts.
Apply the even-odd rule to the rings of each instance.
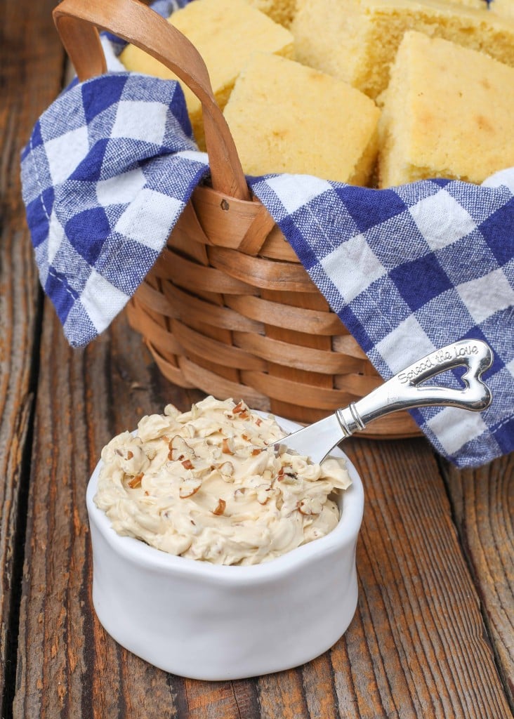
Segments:
[[[181,387],[311,422],[381,383],[258,201],[197,188],[128,308]],[[418,434],[408,414],[374,436]]]

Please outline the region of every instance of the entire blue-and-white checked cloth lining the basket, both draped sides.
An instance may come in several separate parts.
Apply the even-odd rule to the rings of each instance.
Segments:
[[[169,1],[156,9],[167,14]],[[123,71],[119,48],[103,42],[111,71],[73,82],[22,152],[41,283],[75,347],[124,308],[208,173],[180,86]],[[459,467],[511,452],[514,168],[483,186],[423,180],[388,190],[308,175],[248,179],[382,377],[456,339],[490,344],[490,408],[413,417]],[[444,381],[459,384],[457,373]]]

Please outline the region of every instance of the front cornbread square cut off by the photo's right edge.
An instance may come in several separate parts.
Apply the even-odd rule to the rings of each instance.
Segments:
[[[406,32],[379,123],[379,183],[482,183],[514,165],[514,68],[439,37]]]

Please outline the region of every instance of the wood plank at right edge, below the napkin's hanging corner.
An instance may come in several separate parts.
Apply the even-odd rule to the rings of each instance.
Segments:
[[[514,454],[457,472],[444,466],[459,536],[514,707]]]

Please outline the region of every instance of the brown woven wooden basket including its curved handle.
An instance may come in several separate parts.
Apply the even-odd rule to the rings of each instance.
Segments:
[[[159,260],[129,303],[129,321],[165,377],[301,422],[380,384],[357,342],[313,285],[265,208],[249,194],[200,55],[137,0],[63,0],[63,45],[85,80],[105,71],[98,30],[133,42],[201,100],[211,183],[196,188]],[[395,413],[367,434],[420,434]]]

